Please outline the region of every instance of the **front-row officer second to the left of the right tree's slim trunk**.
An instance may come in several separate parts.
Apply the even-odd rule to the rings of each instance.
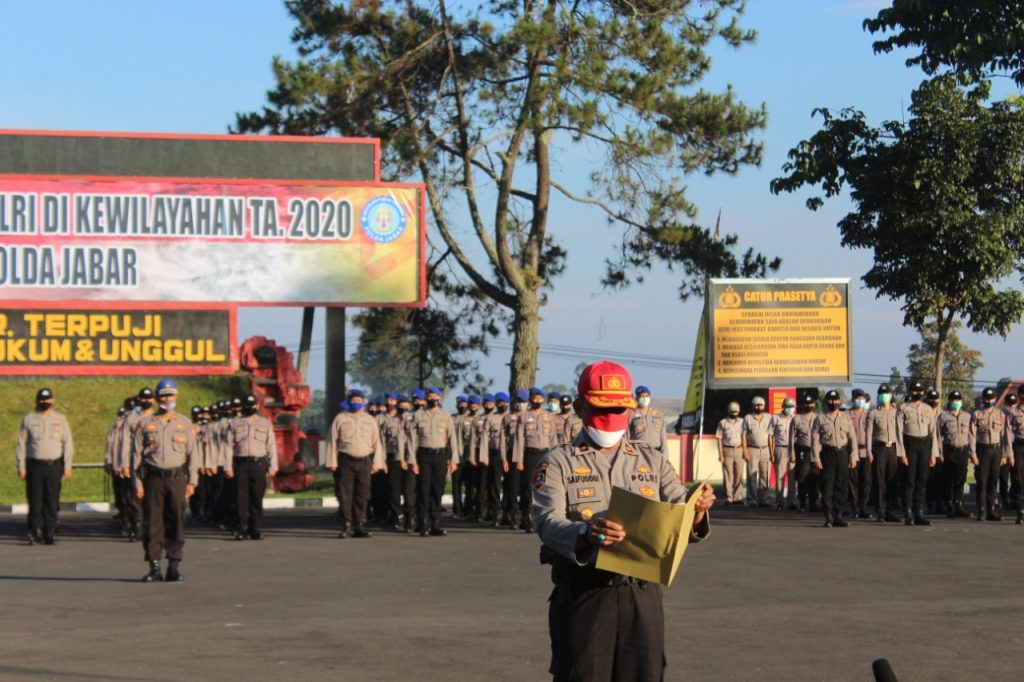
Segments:
[[[879,386],[878,407],[867,413],[867,463],[874,470],[876,520],[895,523],[899,509],[899,461],[903,455],[903,422],[892,403],[889,384]]]

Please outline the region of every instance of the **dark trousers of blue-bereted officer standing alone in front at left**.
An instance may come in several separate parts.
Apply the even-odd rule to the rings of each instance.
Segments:
[[[181,471],[172,476],[145,474],[142,483],[142,547],[146,561],[181,560],[185,546],[185,487]]]

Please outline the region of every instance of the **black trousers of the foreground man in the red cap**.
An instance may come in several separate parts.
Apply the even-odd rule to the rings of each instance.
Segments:
[[[551,667],[556,682],[658,682],[665,675],[659,585],[598,587],[570,601],[550,599]]]

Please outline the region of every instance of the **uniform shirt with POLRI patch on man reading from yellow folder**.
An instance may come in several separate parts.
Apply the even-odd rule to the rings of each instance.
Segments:
[[[611,488],[622,487],[650,500],[685,502],[688,492],[662,453],[645,442],[625,438],[613,456],[595,450],[584,436],[549,451],[530,481],[534,520],[545,545],[584,566],[597,559],[588,545],[581,554],[575,544],[581,529],[596,516],[607,516]],[[690,541],[708,537],[708,514],[690,532]]]

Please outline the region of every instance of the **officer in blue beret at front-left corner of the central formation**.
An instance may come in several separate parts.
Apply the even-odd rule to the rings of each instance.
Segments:
[[[348,391],[348,411],[338,413],[331,425],[327,468],[338,472],[339,538],[371,537],[367,530],[370,477],[387,468],[377,420],[362,411],[366,399],[358,389]]]

